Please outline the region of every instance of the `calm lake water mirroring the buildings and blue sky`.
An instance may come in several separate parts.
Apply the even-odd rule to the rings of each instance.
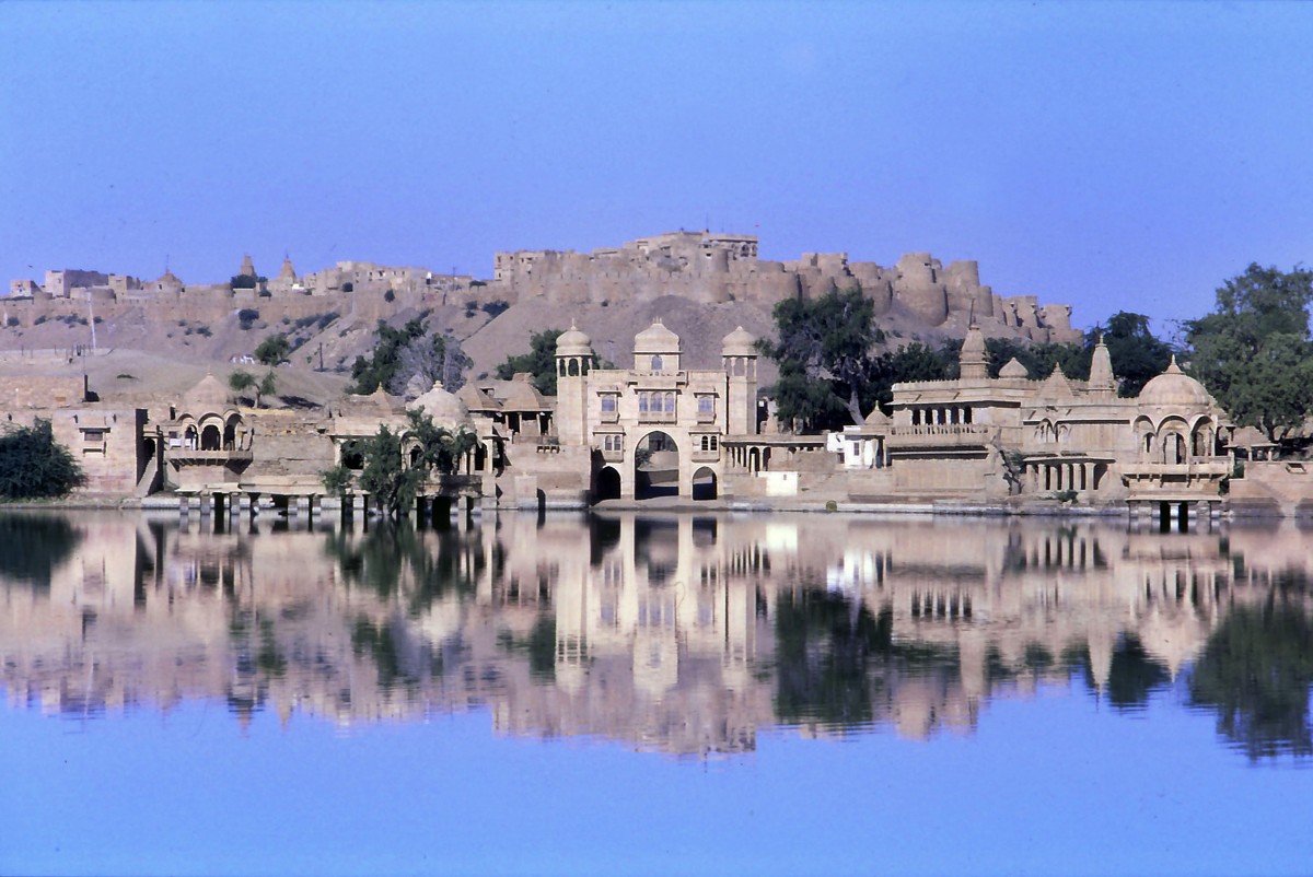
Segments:
[[[0,516],[0,873],[1309,873],[1313,534]]]

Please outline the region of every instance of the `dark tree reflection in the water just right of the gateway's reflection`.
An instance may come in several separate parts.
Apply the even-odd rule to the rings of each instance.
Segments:
[[[821,721],[838,726],[874,718],[872,691],[880,671],[956,670],[956,655],[928,643],[893,638],[893,610],[878,614],[842,593],[804,589],[780,595],[775,617],[781,722]]]

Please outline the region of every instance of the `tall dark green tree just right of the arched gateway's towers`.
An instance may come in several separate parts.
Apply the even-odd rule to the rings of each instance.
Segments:
[[[860,424],[871,348],[884,340],[871,299],[860,289],[786,298],[773,316],[779,341],[760,339],[758,349],[780,369],[775,385],[780,417],[811,429],[840,425],[844,415]]]

